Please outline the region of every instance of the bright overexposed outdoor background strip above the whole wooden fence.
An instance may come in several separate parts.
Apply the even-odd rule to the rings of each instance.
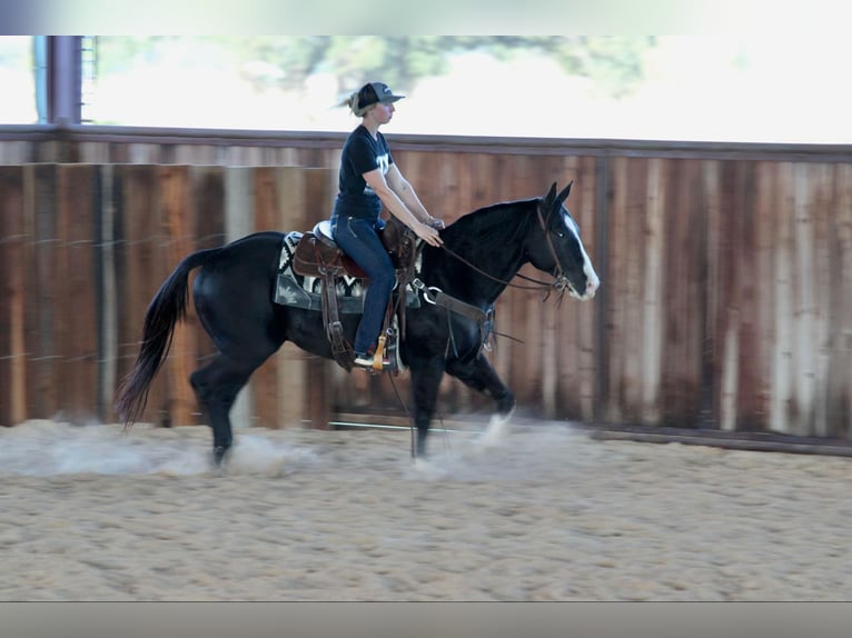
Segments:
[[[38,121],[34,40],[0,37],[0,122]],[[341,99],[378,79],[410,98],[399,133],[852,140],[852,40],[824,33],[83,36],[82,50],[83,123],[346,131]]]

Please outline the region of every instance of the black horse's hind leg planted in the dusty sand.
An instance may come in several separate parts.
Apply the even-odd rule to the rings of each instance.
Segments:
[[[230,409],[237,395],[248,381],[257,366],[239,363],[225,355],[217,355],[204,368],[189,377],[189,382],[207,417],[214,435],[214,461],[220,466],[226,452],[234,443]]]

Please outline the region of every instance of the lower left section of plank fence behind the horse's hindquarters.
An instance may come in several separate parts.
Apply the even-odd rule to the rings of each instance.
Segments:
[[[329,206],[331,177],[299,168],[0,167],[0,423],[113,419],[147,305],[178,261],[255,229],[308,227],[305,216]],[[187,376],[211,352],[190,311],[146,420],[198,422]],[[310,366],[283,348],[242,399],[244,420],[309,418]]]

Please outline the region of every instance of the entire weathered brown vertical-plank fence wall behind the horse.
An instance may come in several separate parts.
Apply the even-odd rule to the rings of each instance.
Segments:
[[[453,221],[503,199],[575,188],[568,206],[602,279],[594,301],[509,289],[491,356],[526,413],[587,422],[852,438],[852,162],[723,151],[532,152],[399,144],[427,207]],[[0,422],[103,419],[141,320],[182,255],[328,215],[321,168],[0,167]],[[290,158],[300,161],[294,151]],[[529,272],[532,273],[532,272]],[[190,316],[146,418],[197,422],[186,376],[210,353]],[[397,380],[406,397],[406,379]],[[452,416],[488,403],[446,379]],[[252,380],[240,422],[400,417],[384,378],[287,345]]]

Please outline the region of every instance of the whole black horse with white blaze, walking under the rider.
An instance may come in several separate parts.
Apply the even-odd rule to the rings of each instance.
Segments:
[[[444,372],[494,399],[498,418],[512,413],[515,398],[482,350],[494,303],[525,263],[553,276],[552,282],[537,282],[545,288],[567,290],[578,299],[594,297],[598,278],[579,228],[564,206],[572,183],[558,195],[554,182],[543,198],[501,202],[465,215],[442,230],[444,247],[423,246],[417,281],[424,285],[418,291],[424,302],[406,310],[399,348],[410,372],[418,457],[426,453]],[[284,237],[257,232],[200,250],[164,281],[148,307],[133,370],[117,397],[116,409],[126,423],[138,420],[145,409],[175,325],[186,315],[189,272],[198,267],[192,290],[196,312],[219,352],[190,375],[190,382],[212,428],[216,465],[232,443],[229,412],[237,393],[270,355],[289,340],[319,357],[333,357],[319,311],[274,302]],[[351,341],[359,316],[344,315],[343,320]]]

